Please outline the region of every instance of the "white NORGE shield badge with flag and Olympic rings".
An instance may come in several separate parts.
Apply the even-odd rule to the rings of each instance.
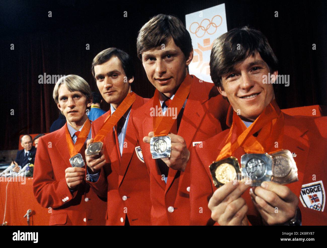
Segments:
[[[322,212],[325,207],[325,189],[322,181],[303,184],[300,200],[304,207]]]

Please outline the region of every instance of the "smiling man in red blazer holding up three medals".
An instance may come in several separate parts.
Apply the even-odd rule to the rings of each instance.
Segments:
[[[236,49],[239,44],[241,50]],[[327,119],[281,112],[272,85],[278,78],[277,58],[267,38],[248,27],[221,35],[213,44],[210,71],[231,103],[231,129],[194,148],[188,164],[191,224],[326,225]],[[231,156],[241,161],[246,153],[281,149],[292,153],[298,181],[286,185],[266,181],[250,188],[235,180],[219,189],[214,186],[209,170],[213,161]],[[275,166],[281,166],[279,171],[285,168]]]

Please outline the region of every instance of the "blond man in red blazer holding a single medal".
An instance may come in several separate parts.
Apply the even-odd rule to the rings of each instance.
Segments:
[[[53,98],[67,124],[39,139],[33,175],[34,195],[49,209],[49,225],[104,225],[105,199],[100,199],[85,183],[85,166],[72,167],[70,163],[70,145],[81,145],[79,153],[85,161],[84,142],[91,138],[91,123],[86,115],[92,103],[90,86],[83,78],[68,75],[58,80]]]

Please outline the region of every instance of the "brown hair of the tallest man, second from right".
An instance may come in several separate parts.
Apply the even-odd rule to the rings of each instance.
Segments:
[[[137,56],[142,60],[142,53],[161,46],[172,37],[175,44],[181,49],[185,58],[193,50],[192,40],[185,26],[175,16],[159,14],[152,17],[140,29],[137,36]]]

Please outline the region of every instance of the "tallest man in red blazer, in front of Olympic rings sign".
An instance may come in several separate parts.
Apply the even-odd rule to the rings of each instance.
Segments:
[[[139,31],[137,52],[149,81],[156,87],[155,96],[132,116],[144,161],[150,171],[151,224],[188,225],[190,178],[186,163],[189,150],[196,143],[222,131],[229,104],[214,85],[188,73],[193,58],[192,42],[178,18],[163,14],[151,18]],[[160,111],[156,113],[154,110],[163,108],[167,112],[174,97],[181,99],[176,92],[184,85],[190,86],[190,91],[186,99],[182,99],[179,114],[171,112],[171,118],[176,119],[174,130],[167,130],[171,155],[153,159],[149,142],[154,136],[153,119],[160,115]]]

